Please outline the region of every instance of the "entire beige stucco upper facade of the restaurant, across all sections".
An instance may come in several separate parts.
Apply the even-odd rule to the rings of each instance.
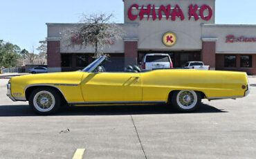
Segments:
[[[256,26],[253,25],[215,25],[215,0],[124,0],[124,16],[125,24],[122,26],[125,36],[124,38],[137,38],[138,50],[201,50],[202,39],[217,39],[217,53],[256,53],[256,43],[226,43],[227,35],[235,35],[236,37],[256,37]],[[183,10],[185,19],[176,18],[176,21],[171,19],[166,20],[165,17],[161,21],[152,17],[147,20],[145,17],[142,21],[139,17],[135,21],[128,18],[128,10],[131,5],[137,3],[138,6],[147,6],[148,4],[159,7],[161,5],[171,5],[175,7],[178,4]],[[199,19],[189,20],[189,6],[197,4],[202,6],[206,4],[212,8],[213,15],[210,21]],[[136,10],[134,10],[136,12]],[[134,13],[134,12],[133,12]],[[48,38],[61,38],[61,53],[93,53],[94,48],[88,47],[67,47],[64,30],[73,28],[78,24],[47,24]],[[172,47],[167,47],[162,42],[162,37],[165,32],[174,32],[178,38],[176,44]],[[104,48],[104,53],[125,53],[124,41],[120,39],[116,44]]]

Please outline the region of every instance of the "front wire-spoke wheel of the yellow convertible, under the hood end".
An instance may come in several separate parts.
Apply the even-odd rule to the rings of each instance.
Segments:
[[[29,105],[35,113],[48,115],[60,109],[61,101],[53,88],[36,88],[30,95]]]

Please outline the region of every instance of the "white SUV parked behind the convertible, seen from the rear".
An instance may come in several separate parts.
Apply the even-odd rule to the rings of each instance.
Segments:
[[[142,70],[154,70],[173,68],[172,59],[170,55],[163,53],[147,54],[143,58]]]

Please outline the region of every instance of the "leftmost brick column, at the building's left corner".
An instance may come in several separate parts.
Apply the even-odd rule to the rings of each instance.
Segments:
[[[60,55],[60,40],[47,41],[47,65],[48,65],[49,73],[62,71],[62,59]]]

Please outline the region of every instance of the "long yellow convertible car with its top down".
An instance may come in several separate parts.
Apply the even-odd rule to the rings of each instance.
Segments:
[[[12,77],[7,95],[29,101],[39,114],[55,113],[60,106],[113,104],[170,104],[182,112],[194,111],[201,99],[235,99],[248,95],[246,73],[230,71],[154,70],[128,67],[114,73],[100,57],[82,71]]]

